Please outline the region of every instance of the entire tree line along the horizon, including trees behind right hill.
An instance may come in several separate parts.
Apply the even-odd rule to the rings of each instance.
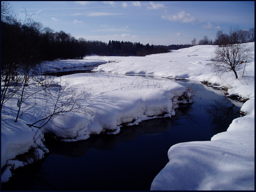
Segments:
[[[216,34],[216,41],[205,36],[197,43],[194,38],[191,44],[181,45],[143,45],[140,42],[87,41],[65,33],[54,32],[50,27],[33,21],[26,13],[25,20],[17,19],[8,2],[1,2],[1,56],[2,66],[9,63],[40,62],[54,59],[82,59],[86,55],[102,56],[145,56],[156,53],[167,53],[172,50],[188,48],[197,44],[220,44],[226,38],[223,31]],[[239,30],[239,43],[254,41],[254,28],[249,31]],[[237,41],[238,42],[238,41]]]

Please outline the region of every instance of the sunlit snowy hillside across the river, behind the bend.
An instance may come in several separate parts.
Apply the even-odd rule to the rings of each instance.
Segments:
[[[247,46],[254,50],[254,42],[247,43]],[[102,59],[109,62],[98,66],[95,69],[97,72],[185,78],[193,81],[206,81],[212,85],[226,88],[234,88],[240,85],[254,86],[254,59],[248,62],[245,67],[245,78],[235,80],[233,72],[225,73],[219,77],[211,72],[210,66],[206,66],[214,49],[215,46],[213,45],[201,45],[145,57],[89,56],[87,59]],[[238,74],[241,77],[242,71],[238,71]],[[248,94],[254,95],[253,87],[248,90],[252,91]],[[247,98],[251,97],[246,96],[245,90],[240,90],[240,92],[243,95],[245,94]]]

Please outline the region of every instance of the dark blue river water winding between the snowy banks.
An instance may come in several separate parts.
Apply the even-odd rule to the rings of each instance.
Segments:
[[[170,80],[171,81],[171,80]],[[190,81],[177,81],[184,86]],[[48,142],[41,162],[16,170],[2,190],[150,190],[169,162],[168,149],[181,142],[210,140],[226,131],[241,103],[213,88],[194,85],[194,103],[172,118],[123,127],[117,135],[101,134],[73,143]]]

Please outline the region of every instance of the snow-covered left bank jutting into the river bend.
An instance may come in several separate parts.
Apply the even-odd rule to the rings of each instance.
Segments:
[[[30,108],[30,105],[23,104],[22,110],[26,113],[17,123],[10,118],[12,114],[17,113],[17,99],[12,98],[6,102],[1,119],[1,167],[5,165],[7,167],[3,168],[2,182],[8,181],[11,177],[12,168],[16,169],[27,164],[14,160],[16,155],[28,152],[31,148],[37,149],[37,146],[44,147],[43,135],[41,134],[40,137],[38,135],[41,131],[53,133],[66,142],[85,140],[92,134],[105,131],[109,134],[117,134],[123,123],[134,125],[159,115],[171,117],[175,114],[174,109],[178,107],[178,103],[191,102],[191,94],[186,88],[168,79],[80,73],[70,75],[67,79],[64,78],[65,80],[63,77],[56,77],[54,82],[60,82],[61,79],[66,85],[64,89],[66,91],[61,93],[62,97],[58,98],[60,93],[53,88],[51,98],[44,97],[44,94],[39,92],[36,97],[26,99],[26,103],[35,106]],[[79,105],[79,110],[86,109],[86,114],[70,111],[64,115],[54,116],[40,130],[31,129],[26,125],[45,118],[48,111],[52,110],[51,101],[56,102],[57,99],[67,101],[69,95],[72,95],[69,88],[76,90],[77,94],[84,89],[88,90],[84,100],[75,103]],[[39,123],[36,126],[39,126]],[[39,139],[35,140],[34,138],[37,137]],[[41,143],[37,143],[38,141]],[[38,152],[40,159],[43,157],[43,152],[40,150]]]

